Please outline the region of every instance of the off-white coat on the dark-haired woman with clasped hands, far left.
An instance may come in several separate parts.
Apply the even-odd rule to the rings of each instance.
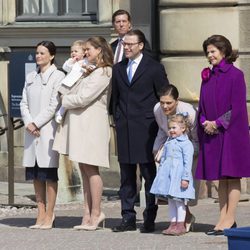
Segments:
[[[42,168],[58,167],[58,153],[52,150],[56,124],[53,119],[57,105],[57,92],[64,73],[51,65],[44,73],[27,75],[20,109],[25,127],[34,122],[40,137],[25,130],[23,166],[33,167],[35,161]]]

